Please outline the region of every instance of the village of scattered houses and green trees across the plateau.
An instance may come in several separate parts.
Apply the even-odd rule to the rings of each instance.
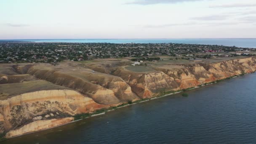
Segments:
[[[197,45],[175,43],[0,43],[0,62],[86,61],[90,59],[131,57],[136,61],[159,61],[158,56],[170,59],[195,60],[212,57],[255,56],[254,48],[238,48],[223,45]],[[152,59],[156,57],[156,59]]]

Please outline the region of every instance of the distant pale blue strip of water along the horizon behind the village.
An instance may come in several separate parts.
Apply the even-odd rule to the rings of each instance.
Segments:
[[[203,45],[225,45],[243,48],[256,48],[256,39],[59,39],[59,40],[22,40],[32,42],[67,43],[185,43]]]

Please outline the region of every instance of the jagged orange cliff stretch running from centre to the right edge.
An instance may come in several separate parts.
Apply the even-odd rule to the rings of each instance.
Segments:
[[[156,68],[155,72],[136,73],[120,68],[114,75],[122,77],[140,98],[151,98],[161,91],[177,91],[235,75],[255,72],[256,58],[234,59],[212,64],[190,64],[180,69]]]

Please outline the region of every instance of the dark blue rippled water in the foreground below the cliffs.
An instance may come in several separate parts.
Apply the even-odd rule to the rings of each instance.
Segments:
[[[255,144],[256,73],[3,144]]]

